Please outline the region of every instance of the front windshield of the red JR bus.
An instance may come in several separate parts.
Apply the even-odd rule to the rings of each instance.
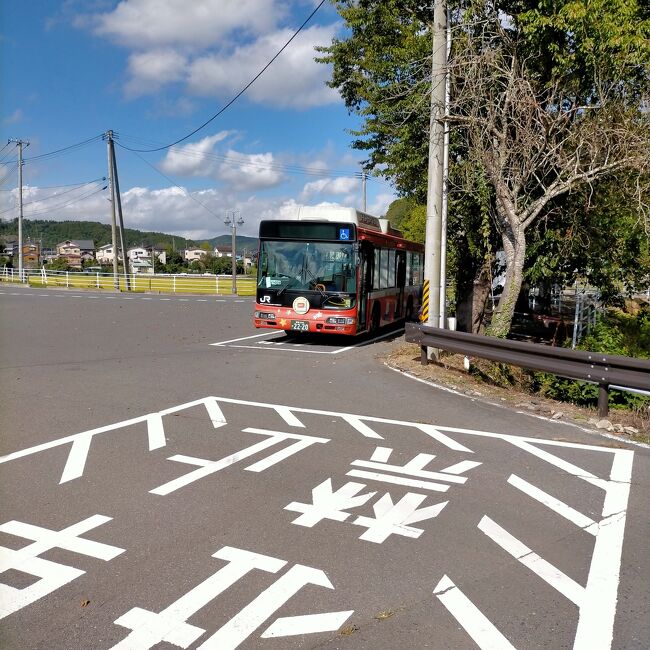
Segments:
[[[352,243],[262,240],[258,287],[356,292]]]

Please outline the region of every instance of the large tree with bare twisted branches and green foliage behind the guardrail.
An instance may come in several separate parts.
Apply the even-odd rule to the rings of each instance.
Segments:
[[[423,204],[430,4],[335,4],[349,32],[320,60],[362,120],[353,146],[369,153],[368,169]],[[452,194],[464,196],[456,212],[450,197],[450,240],[457,269],[474,272],[459,276],[458,298],[463,284],[489,287],[496,239],[507,265],[492,333],[505,335],[530,259],[526,231],[580,188],[648,165],[648,113],[639,108],[650,22],[638,0],[468,0],[455,9],[450,176]],[[646,199],[637,193],[637,217]]]

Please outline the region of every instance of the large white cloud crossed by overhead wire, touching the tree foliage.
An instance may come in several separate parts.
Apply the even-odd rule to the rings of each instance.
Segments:
[[[314,47],[329,44],[335,31],[335,25],[302,31],[246,91],[246,97],[280,108],[308,108],[339,101],[338,93],[325,85],[330,74],[327,66],[314,61]],[[229,55],[196,58],[189,65],[189,90],[197,95],[234,95],[286,43],[291,33],[290,29],[283,29],[238,47]]]

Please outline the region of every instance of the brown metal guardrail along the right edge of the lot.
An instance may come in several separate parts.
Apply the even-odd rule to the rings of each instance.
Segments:
[[[607,415],[610,387],[650,394],[650,361],[645,359],[452,332],[418,323],[406,324],[405,338],[422,347],[423,363],[426,348],[431,347],[598,384],[600,417]]]

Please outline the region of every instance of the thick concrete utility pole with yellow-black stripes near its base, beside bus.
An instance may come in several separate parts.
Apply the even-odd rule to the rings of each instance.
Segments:
[[[440,326],[440,254],[442,236],[442,190],[444,177],[444,106],[447,11],[443,0],[436,0],[433,10],[433,45],[431,56],[431,116],[429,120],[429,174],[427,182],[427,221],[424,251],[424,290],[422,320]],[[428,358],[436,361],[439,350],[430,348]],[[424,359],[423,359],[424,361]]]

